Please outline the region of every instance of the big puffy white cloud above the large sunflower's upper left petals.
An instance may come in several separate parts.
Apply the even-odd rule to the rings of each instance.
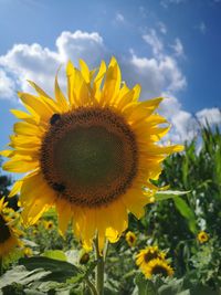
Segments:
[[[52,93],[54,74],[61,64],[71,59],[78,65],[78,59],[83,57],[94,66],[106,54],[103,39],[96,32],[62,32],[55,44],[56,51],[36,43],[15,44],[6,55],[0,56],[0,65],[17,77],[22,91],[30,91],[27,80],[32,80]],[[61,76],[61,85],[64,86],[64,75]]]

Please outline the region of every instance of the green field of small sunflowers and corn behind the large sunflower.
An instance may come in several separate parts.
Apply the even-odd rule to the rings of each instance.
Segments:
[[[108,295],[221,294],[219,129],[202,127],[164,168],[155,183],[164,188],[156,202],[146,206],[140,220],[129,215],[128,229],[116,243],[106,243],[102,254],[83,249],[71,226],[62,238],[53,209],[24,229],[18,198],[7,198],[17,210],[8,218],[20,244],[1,259],[0,294],[98,294],[97,264],[104,267]],[[10,177],[1,172],[1,196],[9,194],[10,186]]]

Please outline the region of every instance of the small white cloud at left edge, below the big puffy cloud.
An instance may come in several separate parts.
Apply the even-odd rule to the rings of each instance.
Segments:
[[[7,73],[0,69],[0,98],[12,99],[15,92],[15,85],[12,78],[10,78]]]

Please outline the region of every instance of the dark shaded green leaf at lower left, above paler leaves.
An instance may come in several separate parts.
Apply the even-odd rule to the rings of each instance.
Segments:
[[[28,271],[33,271],[38,268],[42,268],[44,271],[49,271],[50,273],[42,278],[42,281],[54,281],[54,282],[66,282],[66,280],[77,276],[78,274],[83,274],[83,272],[77,268],[75,265],[53,260],[49,257],[29,257],[29,259],[20,259],[19,264],[24,265]]]

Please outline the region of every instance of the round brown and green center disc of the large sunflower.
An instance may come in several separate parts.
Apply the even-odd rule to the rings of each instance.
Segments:
[[[72,203],[97,207],[126,192],[137,173],[137,145],[108,108],[54,114],[41,149],[48,183]]]

